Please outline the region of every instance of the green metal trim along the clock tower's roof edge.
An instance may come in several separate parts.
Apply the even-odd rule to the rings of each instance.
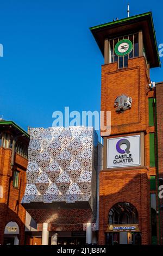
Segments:
[[[97,28],[103,28],[103,27],[110,26],[110,25],[120,24],[120,23],[122,23],[124,21],[134,20],[135,18],[140,18],[140,17],[144,17],[144,16],[148,16],[148,15],[150,15],[150,17],[151,17],[153,34],[154,34],[154,41],[155,41],[156,51],[158,53],[159,66],[161,66],[160,57],[159,57],[159,51],[158,51],[158,45],[157,45],[156,36],[155,36],[153,17],[152,17],[152,12],[151,11],[149,11],[148,13],[143,13],[143,14],[127,17],[127,18],[124,18],[124,19],[121,19],[121,20],[111,21],[111,22],[108,22],[108,23],[104,23],[102,25],[97,25],[97,26],[94,26],[94,27],[90,27],[90,30],[93,31],[94,29],[97,29]]]

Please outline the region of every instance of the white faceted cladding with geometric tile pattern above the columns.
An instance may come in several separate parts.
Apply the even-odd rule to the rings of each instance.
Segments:
[[[27,186],[22,203],[89,201],[97,143],[93,127],[30,129]]]

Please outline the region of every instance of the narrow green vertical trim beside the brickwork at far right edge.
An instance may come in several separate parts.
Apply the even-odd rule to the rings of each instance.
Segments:
[[[158,160],[158,122],[157,122],[157,104],[155,103],[155,137],[156,137],[156,175],[157,175],[157,191],[158,191],[158,218],[159,218],[159,245],[161,245],[161,228],[160,228],[160,198],[159,198],[159,160]]]

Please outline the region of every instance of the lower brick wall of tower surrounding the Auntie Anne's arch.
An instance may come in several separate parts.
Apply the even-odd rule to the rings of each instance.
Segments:
[[[139,229],[142,244],[149,243],[149,183],[148,170],[137,169],[115,172],[101,172],[99,194],[99,245],[105,244],[109,210],[118,202],[128,202],[135,206],[139,214]]]

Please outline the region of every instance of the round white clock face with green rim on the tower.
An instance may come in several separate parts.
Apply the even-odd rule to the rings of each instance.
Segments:
[[[117,42],[114,50],[117,56],[126,56],[133,50],[133,44],[130,40],[123,39]]]

